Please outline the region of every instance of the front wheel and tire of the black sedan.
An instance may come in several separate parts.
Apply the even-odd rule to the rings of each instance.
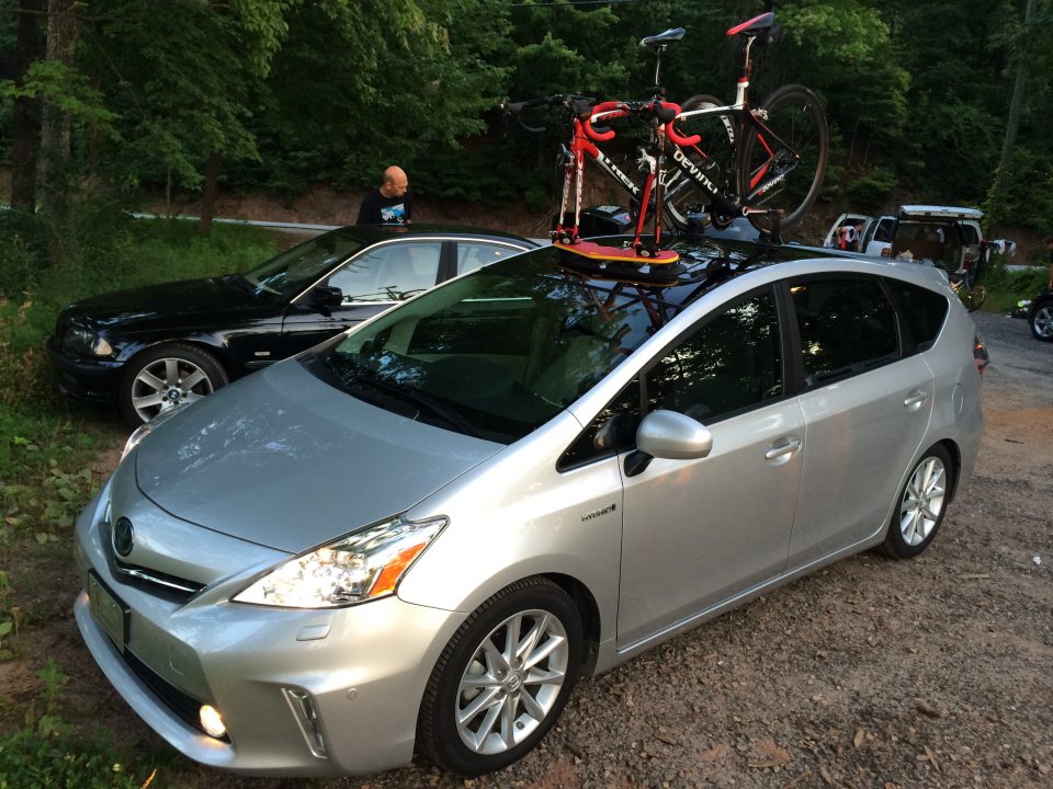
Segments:
[[[137,426],[181,402],[211,395],[228,381],[212,354],[184,343],[166,343],[128,362],[117,401],[124,418]]]

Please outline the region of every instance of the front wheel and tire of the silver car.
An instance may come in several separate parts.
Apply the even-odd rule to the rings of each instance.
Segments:
[[[490,597],[450,640],[428,681],[420,750],[465,776],[525,755],[567,702],[581,641],[577,608],[546,579],[525,579]]]

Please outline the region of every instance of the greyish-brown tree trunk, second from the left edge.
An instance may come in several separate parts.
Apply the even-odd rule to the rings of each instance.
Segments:
[[[77,18],[75,0],[48,0],[47,3],[47,59],[72,68],[73,49],[77,46]],[[44,193],[44,215],[48,220],[48,258],[56,265],[67,258],[70,241],[70,147],[69,113],[54,101],[43,106],[41,127],[41,176]]]

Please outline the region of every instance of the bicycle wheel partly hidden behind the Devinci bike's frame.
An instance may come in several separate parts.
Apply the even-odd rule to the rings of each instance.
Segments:
[[[705,190],[692,181],[675,161],[682,155],[688,162],[699,168],[716,186],[726,190],[735,183],[733,132],[724,115],[697,115],[682,117],[683,113],[695,110],[709,110],[726,106],[715,96],[700,93],[680,105],[681,117],[676,122],[677,130],[684,137],[699,135],[702,139],[691,148],[678,148],[667,142],[667,165],[665,172],[664,204],[669,220],[680,230],[687,230],[691,217],[702,214],[710,205]],[[714,217],[720,224],[721,218]]]

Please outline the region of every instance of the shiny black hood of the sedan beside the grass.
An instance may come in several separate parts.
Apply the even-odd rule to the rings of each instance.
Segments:
[[[64,312],[97,328],[120,323],[122,329],[134,330],[157,320],[200,324],[202,316],[262,306],[248,285],[242,288],[237,282],[237,275],[231,275],[115,290],[75,301]]]

